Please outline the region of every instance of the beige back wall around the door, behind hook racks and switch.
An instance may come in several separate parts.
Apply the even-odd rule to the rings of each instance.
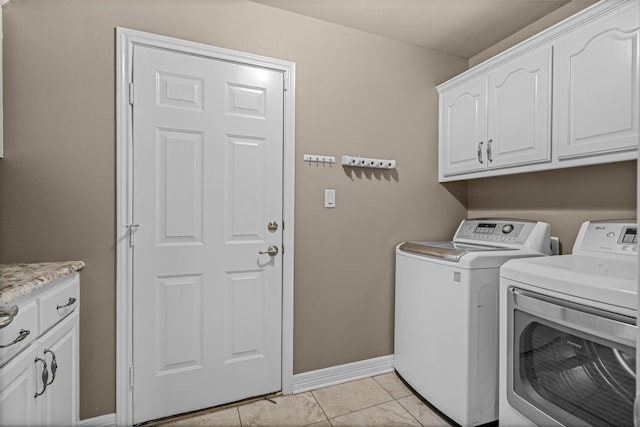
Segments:
[[[446,239],[466,215],[466,184],[437,183],[435,90],[466,60],[245,0],[14,0],[3,12],[0,261],[86,261],[81,418],[115,411],[116,26],[297,63],[294,370],[393,352],[393,246]],[[304,153],[398,169],[315,167]]]

